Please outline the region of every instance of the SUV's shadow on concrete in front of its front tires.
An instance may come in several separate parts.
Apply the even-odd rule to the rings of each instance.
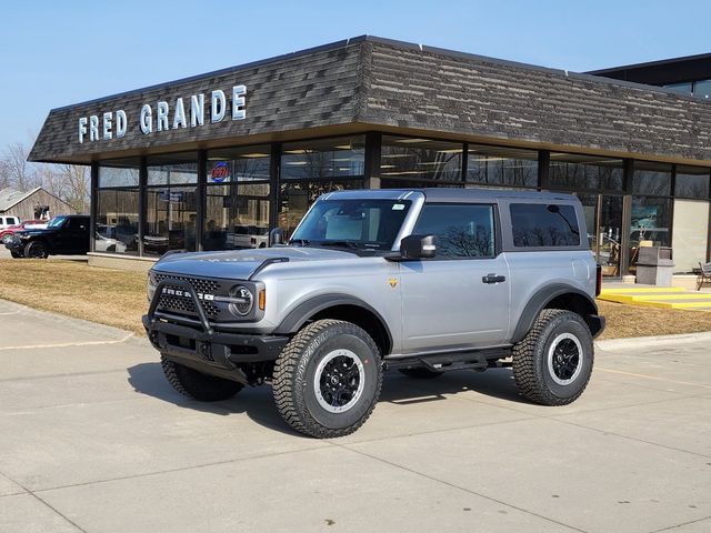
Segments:
[[[291,435],[301,435],[291,430],[277,411],[271,396],[271,388],[246,386],[237,396],[220,402],[199,402],[190,400],[173,390],[166,381],[160,363],[141,363],[127,369],[128,382],[140,394],[153,396],[180,408],[191,409],[203,413],[229,416],[231,414],[247,414],[251,420],[270,430]]]

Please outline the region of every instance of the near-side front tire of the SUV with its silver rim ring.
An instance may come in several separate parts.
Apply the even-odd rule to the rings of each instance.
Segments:
[[[323,375],[328,375],[328,366],[321,369],[323,362],[329,358],[336,361],[334,353],[347,352],[362,365],[358,376],[359,384],[362,380],[362,391],[358,398],[351,396],[348,403],[352,405],[347,410],[330,412],[321,403],[326,402],[326,395],[322,388],[317,390],[317,375],[321,374],[321,382]],[[347,358],[353,360],[350,355]],[[365,331],[339,320],[319,320],[299,331],[277,359],[272,381],[274,402],[284,421],[294,430],[318,439],[343,436],[358,430],[375,408],[381,388],[378,346]]]

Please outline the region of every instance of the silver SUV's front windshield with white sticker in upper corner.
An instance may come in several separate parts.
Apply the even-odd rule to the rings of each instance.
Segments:
[[[322,200],[289,243],[391,250],[410,204],[409,200]]]

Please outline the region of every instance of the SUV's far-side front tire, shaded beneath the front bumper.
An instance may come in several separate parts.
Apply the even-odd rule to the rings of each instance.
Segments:
[[[164,355],[160,358],[160,365],[168,383],[183,396],[192,400],[200,400],[201,402],[229,400],[244,386],[237,381],[203,374],[183,364],[170,361]]]

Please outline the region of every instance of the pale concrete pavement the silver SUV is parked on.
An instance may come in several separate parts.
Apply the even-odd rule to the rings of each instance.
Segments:
[[[565,408],[389,373],[317,441],[268,386],[188,401],[144,340],[0,301],[0,532],[711,532],[709,340],[602,343]]]

